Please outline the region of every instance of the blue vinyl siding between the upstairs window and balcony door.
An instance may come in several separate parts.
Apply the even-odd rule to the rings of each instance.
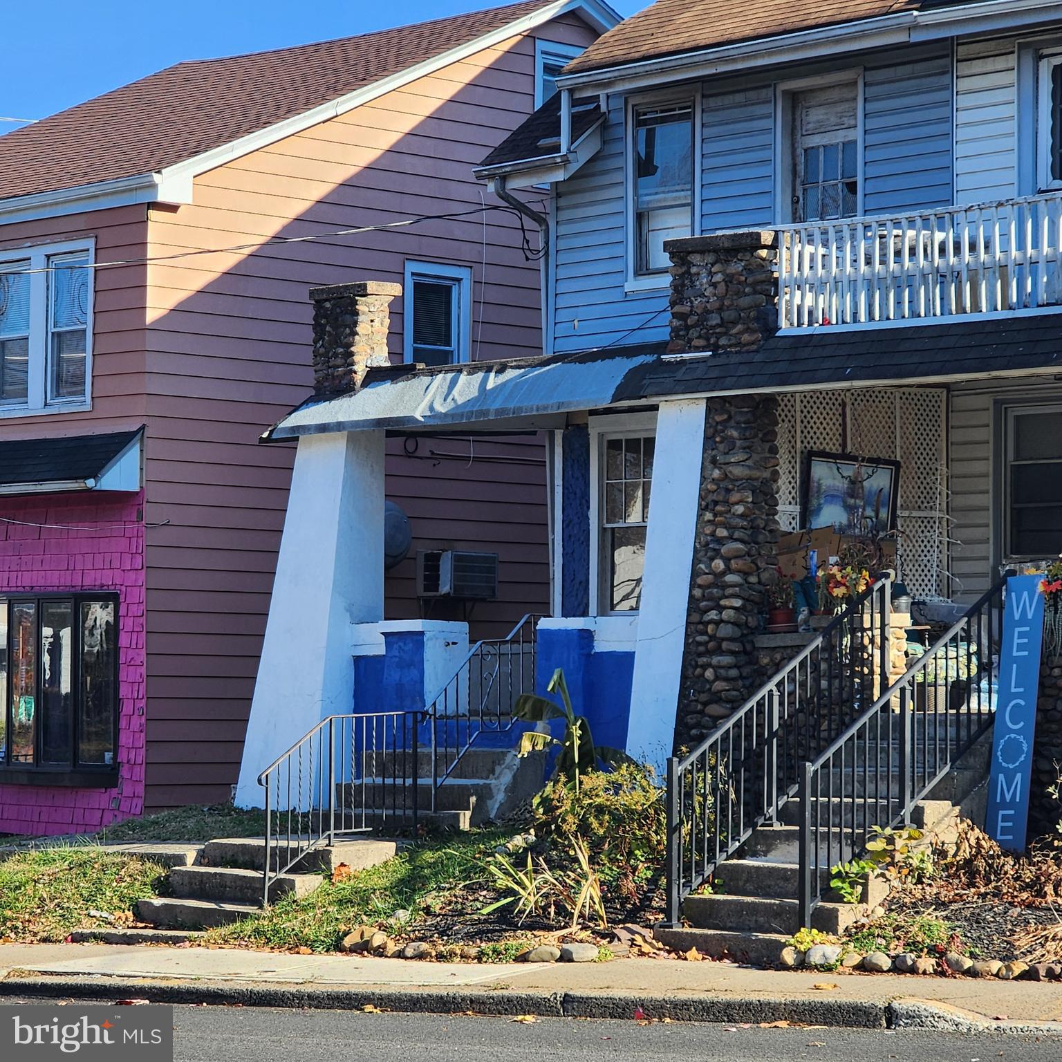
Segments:
[[[774,221],[774,89],[725,95],[701,109],[701,232]]]

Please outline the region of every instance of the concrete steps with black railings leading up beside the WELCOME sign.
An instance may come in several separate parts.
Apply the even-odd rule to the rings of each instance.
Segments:
[[[991,740],[991,736],[988,737]],[[953,843],[960,816],[969,817],[983,803],[987,764],[984,742],[979,742],[954,770],[915,805],[911,823],[926,836],[915,846]],[[841,823],[851,830],[853,821],[867,828],[884,819],[885,802],[860,791],[858,801],[843,806],[837,800],[817,802],[816,820],[822,843],[820,861],[836,859],[841,839]],[[682,927],[657,927],[654,936],[661,943],[684,952],[696,947],[712,958],[727,956],[757,965],[778,962],[788,939],[801,928],[799,911],[800,829],[802,808],[796,800],[782,809],[781,822],[764,825],[734,857],[723,862],[714,875],[718,891],[686,897]],[[832,839],[828,850],[826,837]],[[820,871],[819,889],[829,887],[829,873]],[[866,919],[885,902],[890,883],[873,878],[859,904],[823,900],[812,910],[811,928],[833,936],[842,935],[855,922]]]

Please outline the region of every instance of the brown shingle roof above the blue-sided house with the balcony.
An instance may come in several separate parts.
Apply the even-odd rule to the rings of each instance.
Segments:
[[[964,0],[656,0],[565,67],[580,73]]]

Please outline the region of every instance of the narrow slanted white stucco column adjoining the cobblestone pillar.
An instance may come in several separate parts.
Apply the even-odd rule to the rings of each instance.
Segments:
[[[703,400],[661,402],[627,751],[663,781],[674,741],[704,450]]]

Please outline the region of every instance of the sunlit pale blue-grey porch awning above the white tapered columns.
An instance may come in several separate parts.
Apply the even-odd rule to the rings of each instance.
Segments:
[[[370,372],[360,391],[311,398],[262,439],[479,423],[491,430],[504,430],[508,423],[521,429],[564,427],[568,412],[614,405],[628,375],[655,360],[658,353],[656,344],[468,362],[397,376],[393,371]]]

